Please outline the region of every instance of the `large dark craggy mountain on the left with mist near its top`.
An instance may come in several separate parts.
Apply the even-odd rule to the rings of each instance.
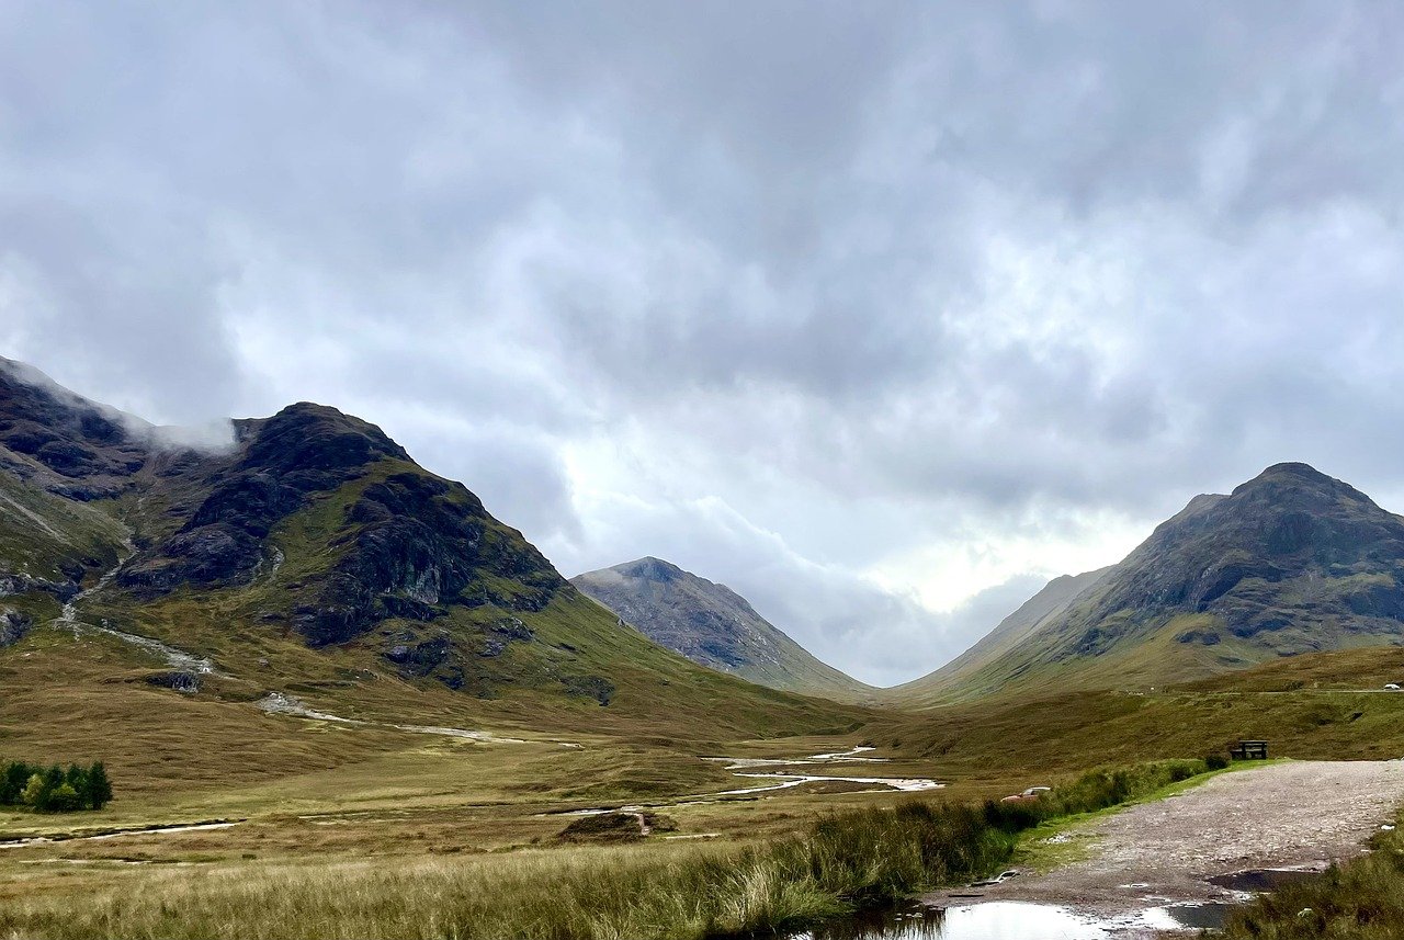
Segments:
[[[463,484],[359,418],[299,403],[190,441],[0,359],[7,692],[32,682],[42,699],[101,641],[83,659],[93,687],[65,694],[111,703],[135,682],[402,720],[701,720],[746,735],[851,714],[621,631]]]

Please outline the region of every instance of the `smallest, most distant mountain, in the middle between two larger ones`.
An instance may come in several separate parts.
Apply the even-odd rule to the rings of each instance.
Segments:
[[[876,692],[816,659],[726,585],[660,558],[590,571],[570,582],[654,643],[703,666],[837,700]]]

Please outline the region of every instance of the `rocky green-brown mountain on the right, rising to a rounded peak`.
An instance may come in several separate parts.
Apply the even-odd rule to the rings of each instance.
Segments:
[[[1279,657],[1404,644],[1404,518],[1303,463],[1199,495],[1112,568],[1059,579],[949,666],[896,690],[1137,687]]]

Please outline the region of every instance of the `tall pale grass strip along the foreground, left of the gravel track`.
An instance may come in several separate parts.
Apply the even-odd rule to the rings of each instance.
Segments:
[[[147,870],[131,873],[138,882],[114,880],[110,891],[7,904],[0,936],[699,940],[785,932],[988,874],[1040,822],[1203,770],[1182,760],[1094,772],[1038,803],[913,800],[751,845]]]

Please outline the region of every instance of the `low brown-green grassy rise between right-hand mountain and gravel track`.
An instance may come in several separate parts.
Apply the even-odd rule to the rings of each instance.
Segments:
[[[1387,682],[1404,683],[1404,648],[1304,652],[1154,690],[1063,687],[893,711],[868,734],[939,760],[972,787],[1226,753],[1244,738],[1268,741],[1279,758],[1396,759],[1404,755],[1404,692],[1386,692]]]

